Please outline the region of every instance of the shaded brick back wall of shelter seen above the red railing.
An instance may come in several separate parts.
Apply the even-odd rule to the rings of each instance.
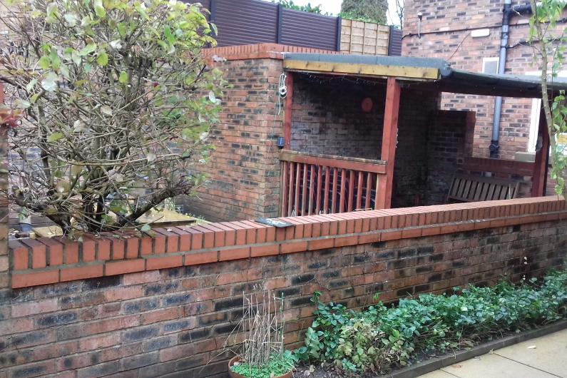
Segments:
[[[329,81],[325,76],[294,75],[292,150],[380,159],[385,83]],[[372,111],[361,103],[371,98]]]

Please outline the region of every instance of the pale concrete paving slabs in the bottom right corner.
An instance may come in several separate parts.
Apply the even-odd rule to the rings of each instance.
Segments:
[[[567,330],[496,349],[420,378],[567,378]]]

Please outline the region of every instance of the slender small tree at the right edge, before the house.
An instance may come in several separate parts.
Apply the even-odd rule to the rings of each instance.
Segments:
[[[531,0],[530,2],[532,11],[530,42],[536,50],[534,61],[538,62],[541,68],[541,103],[551,145],[551,176],[557,182],[556,193],[561,195],[566,189],[567,155],[565,146],[558,146],[556,137],[561,133],[567,133],[567,107],[564,91],[549,98],[548,82],[557,77],[558,71],[563,66],[563,53],[567,43],[566,29],[563,27],[558,29],[557,26],[567,1]]]

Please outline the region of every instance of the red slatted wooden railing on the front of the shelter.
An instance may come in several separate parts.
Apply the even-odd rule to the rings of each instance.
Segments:
[[[380,208],[386,162],[282,150],[282,216]]]

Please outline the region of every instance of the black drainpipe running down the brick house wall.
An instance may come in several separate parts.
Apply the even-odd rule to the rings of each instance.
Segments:
[[[512,6],[512,0],[504,0],[504,9],[502,15],[502,34],[500,37],[500,57],[498,61],[498,73],[504,73],[506,70],[506,49],[510,36],[510,19],[514,14],[530,14],[531,5],[523,4]],[[502,113],[502,98],[498,96],[494,99],[494,118],[492,122],[492,140],[490,141],[490,157],[498,158],[499,156],[499,139],[500,139],[500,116]]]

